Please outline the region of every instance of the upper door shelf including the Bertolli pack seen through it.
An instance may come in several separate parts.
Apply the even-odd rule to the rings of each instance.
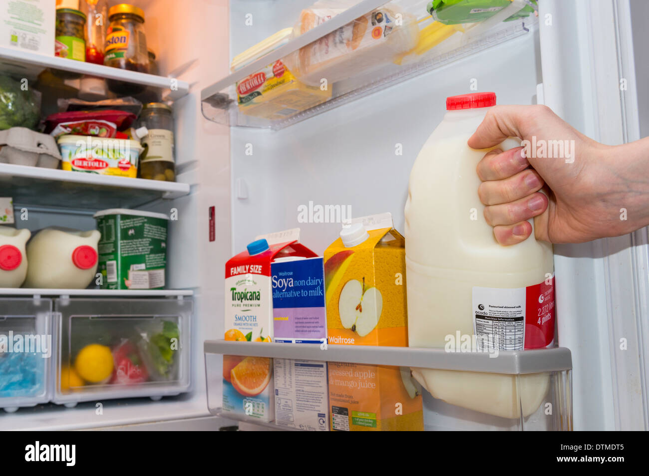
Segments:
[[[363,0],[202,89],[202,113],[216,123],[278,130],[526,34],[537,24],[535,14],[502,20],[522,8],[531,10],[530,5],[514,0],[482,22],[445,25],[428,14],[425,1]],[[377,20],[377,12],[393,16],[391,25],[384,23],[383,14]],[[367,36],[385,41],[384,46],[365,38],[367,46],[361,42],[353,53],[325,60],[320,45],[326,43],[328,49],[334,37],[351,35],[352,27],[356,35],[357,25],[367,28]],[[271,76],[284,77],[286,83],[269,83],[264,96],[265,86],[259,85]]]

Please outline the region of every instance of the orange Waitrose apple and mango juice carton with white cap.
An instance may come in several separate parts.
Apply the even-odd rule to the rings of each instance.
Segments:
[[[404,237],[382,213],[350,220],[324,251],[329,344],[408,346]],[[328,366],[331,428],[421,431],[421,390],[410,369]]]

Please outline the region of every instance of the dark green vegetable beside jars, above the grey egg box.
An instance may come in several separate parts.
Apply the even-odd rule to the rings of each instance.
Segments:
[[[29,85],[28,85],[29,88]],[[38,124],[40,108],[32,89],[21,88],[21,82],[0,75],[0,130]]]

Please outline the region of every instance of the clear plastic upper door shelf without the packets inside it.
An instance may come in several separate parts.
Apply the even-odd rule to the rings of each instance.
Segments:
[[[511,5],[498,11],[492,18],[480,23],[442,25],[436,22],[435,27],[445,30],[431,33],[430,30],[426,29],[433,26],[434,19],[426,11],[426,3],[426,1],[422,0],[392,0],[390,2],[386,0],[362,0],[321,25],[293,38],[285,45],[202,89],[202,113],[210,121],[220,124],[278,130],[376,91],[383,91],[393,84],[399,84],[409,78],[464,58],[469,54],[478,53],[517,36],[528,34],[538,23],[537,17],[532,13],[524,18],[503,21],[519,12],[521,8],[532,6],[526,0],[514,0]],[[254,108],[251,109],[248,106],[238,104],[236,84],[239,81],[260,73],[278,60],[281,60],[285,66],[291,64],[291,58],[295,60],[295,55],[299,54],[297,52],[303,47],[307,47],[310,43],[332,34],[332,32],[345,25],[349,25],[357,18],[363,16],[367,18],[367,15],[375,10],[380,10],[384,6],[385,8],[396,7],[399,9],[398,11],[408,14],[408,25],[416,23],[419,28],[419,36],[415,48],[410,51],[395,53],[393,58],[388,57],[378,63],[371,62],[369,65],[358,65],[354,62],[349,65],[349,73],[341,72],[341,67],[334,67],[329,70],[323,67],[321,75],[323,78],[328,79],[327,88],[331,93],[329,97],[319,97],[318,95],[318,99],[312,99],[312,102],[319,101],[319,104],[304,110],[287,112],[300,106],[285,106],[284,110],[275,112],[272,117],[268,117],[270,113],[267,109],[259,112],[260,108],[257,108],[258,112],[254,112]],[[295,20],[297,18],[287,19],[284,26],[293,25]],[[431,39],[434,41],[428,43]],[[331,69],[336,69],[334,76],[338,76],[339,79],[327,78]],[[300,82],[299,73],[295,71],[293,73]],[[313,76],[316,73],[308,74]],[[310,78],[310,80],[313,80],[313,78]],[[310,86],[317,88],[314,84],[310,84]],[[265,104],[265,102],[260,104]]]

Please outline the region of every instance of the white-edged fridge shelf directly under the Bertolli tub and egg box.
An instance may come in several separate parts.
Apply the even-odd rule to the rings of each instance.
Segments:
[[[177,198],[188,195],[190,185],[0,163],[0,190],[14,204],[97,210]]]

